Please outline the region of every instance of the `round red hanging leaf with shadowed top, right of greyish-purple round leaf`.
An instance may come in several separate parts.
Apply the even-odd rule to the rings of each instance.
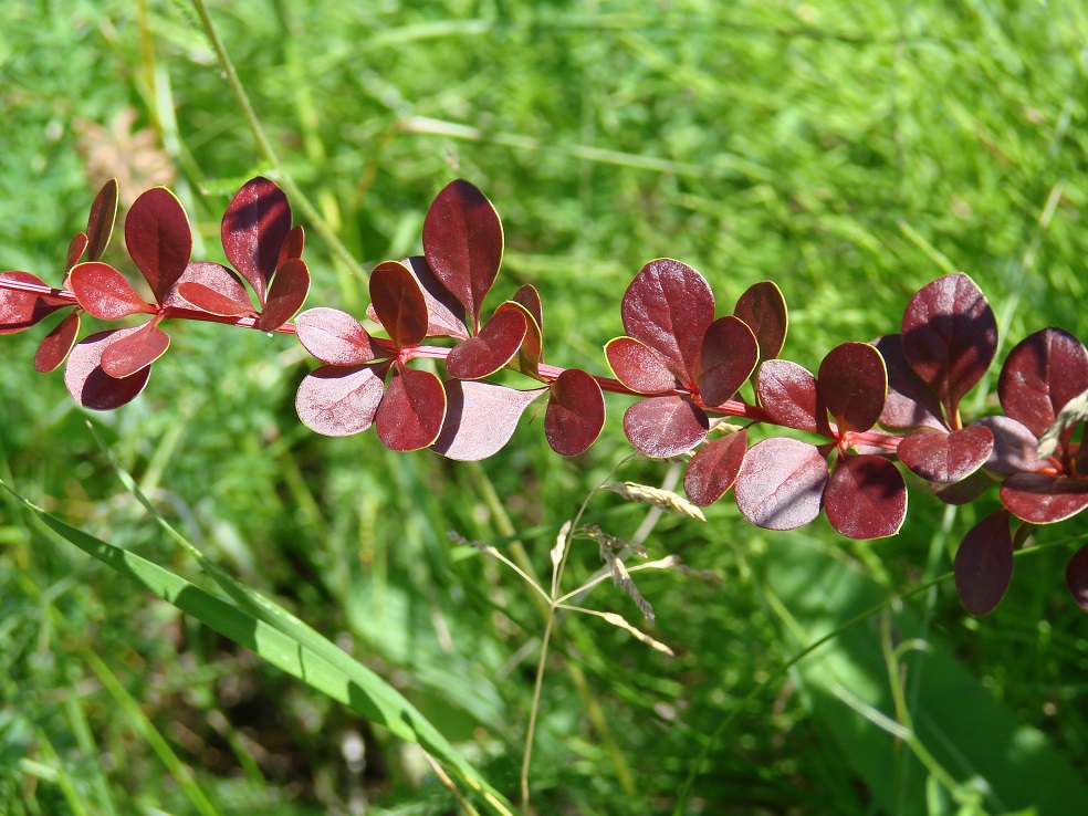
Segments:
[[[824,489],[824,512],[847,538],[895,535],[907,517],[902,473],[883,457],[843,457]]]

